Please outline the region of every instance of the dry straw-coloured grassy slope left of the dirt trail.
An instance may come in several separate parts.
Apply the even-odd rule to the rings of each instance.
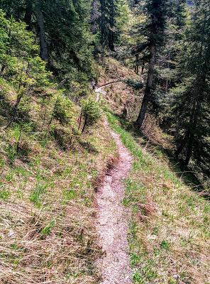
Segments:
[[[50,137],[24,135],[31,148],[24,160],[11,152],[15,136],[13,128],[1,129],[0,283],[96,283],[93,197],[116,156],[109,131],[100,122],[66,151]]]

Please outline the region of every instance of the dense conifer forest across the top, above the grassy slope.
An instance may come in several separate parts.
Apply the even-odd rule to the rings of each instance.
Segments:
[[[30,100],[47,104],[50,84],[57,84],[66,108],[75,94],[87,97],[103,58],[112,56],[134,66],[143,82],[136,125],[142,127],[147,113],[155,115],[174,137],[174,155],[208,180],[207,1],[1,0],[1,9],[1,80],[18,92],[11,113],[4,109],[6,128],[24,124],[21,108],[27,112]],[[62,103],[52,116],[70,123],[59,117]]]

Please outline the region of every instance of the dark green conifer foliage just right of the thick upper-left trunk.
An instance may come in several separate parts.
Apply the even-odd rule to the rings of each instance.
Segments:
[[[57,0],[53,3],[46,0],[43,4],[45,29],[50,39],[50,64],[65,72],[67,77],[70,73],[71,79],[80,82],[88,80],[92,73],[93,38],[89,33],[89,3],[87,0]]]

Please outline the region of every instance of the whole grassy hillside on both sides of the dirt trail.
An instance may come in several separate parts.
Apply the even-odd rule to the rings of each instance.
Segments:
[[[110,62],[111,69],[101,73],[99,85],[110,80],[138,80],[132,70]],[[4,128],[2,111],[1,283],[100,283],[96,260],[102,251],[94,226],[94,197],[104,173],[118,158],[109,127],[133,156],[123,199],[123,206],[131,212],[128,241],[133,283],[209,283],[208,201],[194,192],[196,187],[186,185],[165,153],[151,148],[142,133],[133,129],[129,120],[138,111],[138,92],[125,81],[104,89],[100,103],[106,104],[110,126],[104,124],[104,114],[97,124],[75,135],[74,143],[67,147],[57,143],[55,136],[40,139],[37,129],[43,124],[36,103],[30,116],[36,131],[24,130],[21,142],[20,129]],[[1,103],[11,106],[15,95],[11,85],[1,83]],[[128,106],[125,120],[127,102],[135,102],[135,109]],[[79,105],[73,109],[78,113]],[[14,151],[17,141],[18,155]]]

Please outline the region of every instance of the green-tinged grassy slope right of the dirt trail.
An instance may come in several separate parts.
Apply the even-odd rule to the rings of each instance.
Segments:
[[[210,205],[162,153],[146,151],[115,116],[109,123],[134,157],[124,204],[131,209],[133,283],[209,283]]]

